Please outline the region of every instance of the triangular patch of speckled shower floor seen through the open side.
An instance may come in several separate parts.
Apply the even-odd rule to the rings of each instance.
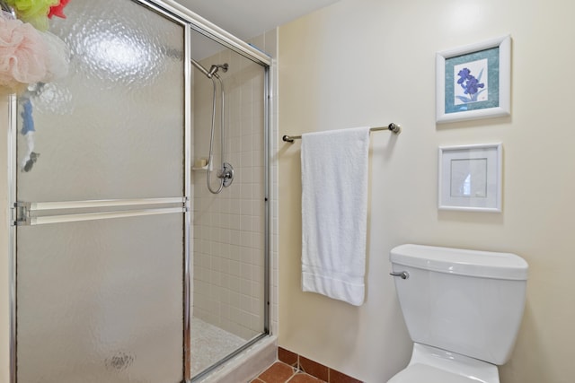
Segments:
[[[206,370],[245,342],[240,336],[193,317],[191,319],[191,375],[194,376]]]

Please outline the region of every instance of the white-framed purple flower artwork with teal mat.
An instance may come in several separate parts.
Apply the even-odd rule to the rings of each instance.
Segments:
[[[438,52],[436,65],[438,123],[509,116],[509,36]]]

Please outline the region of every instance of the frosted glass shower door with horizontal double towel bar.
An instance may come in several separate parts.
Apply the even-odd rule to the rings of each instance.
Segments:
[[[17,382],[181,382],[186,27],[130,0],[66,16],[68,74],[18,100]]]

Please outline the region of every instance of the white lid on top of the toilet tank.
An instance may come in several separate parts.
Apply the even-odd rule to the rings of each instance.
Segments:
[[[520,281],[527,279],[529,267],[525,259],[511,253],[412,244],[392,248],[389,260],[438,273]]]

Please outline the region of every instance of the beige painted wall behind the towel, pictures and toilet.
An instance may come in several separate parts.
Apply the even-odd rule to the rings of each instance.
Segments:
[[[279,29],[279,134],[372,134],[367,302],[300,289],[300,143],[279,145],[279,344],[367,382],[409,360],[389,250],[402,243],[514,252],[530,265],[504,383],[566,383],[575,364],[575,130],[571,15],[559,0],[343,0]],[[435,123],[435,54],[510,34],[512,116]],[[438,211],[438,146],[503,144],[503,213]],[[320,181],[320,180],[318,180]]]

